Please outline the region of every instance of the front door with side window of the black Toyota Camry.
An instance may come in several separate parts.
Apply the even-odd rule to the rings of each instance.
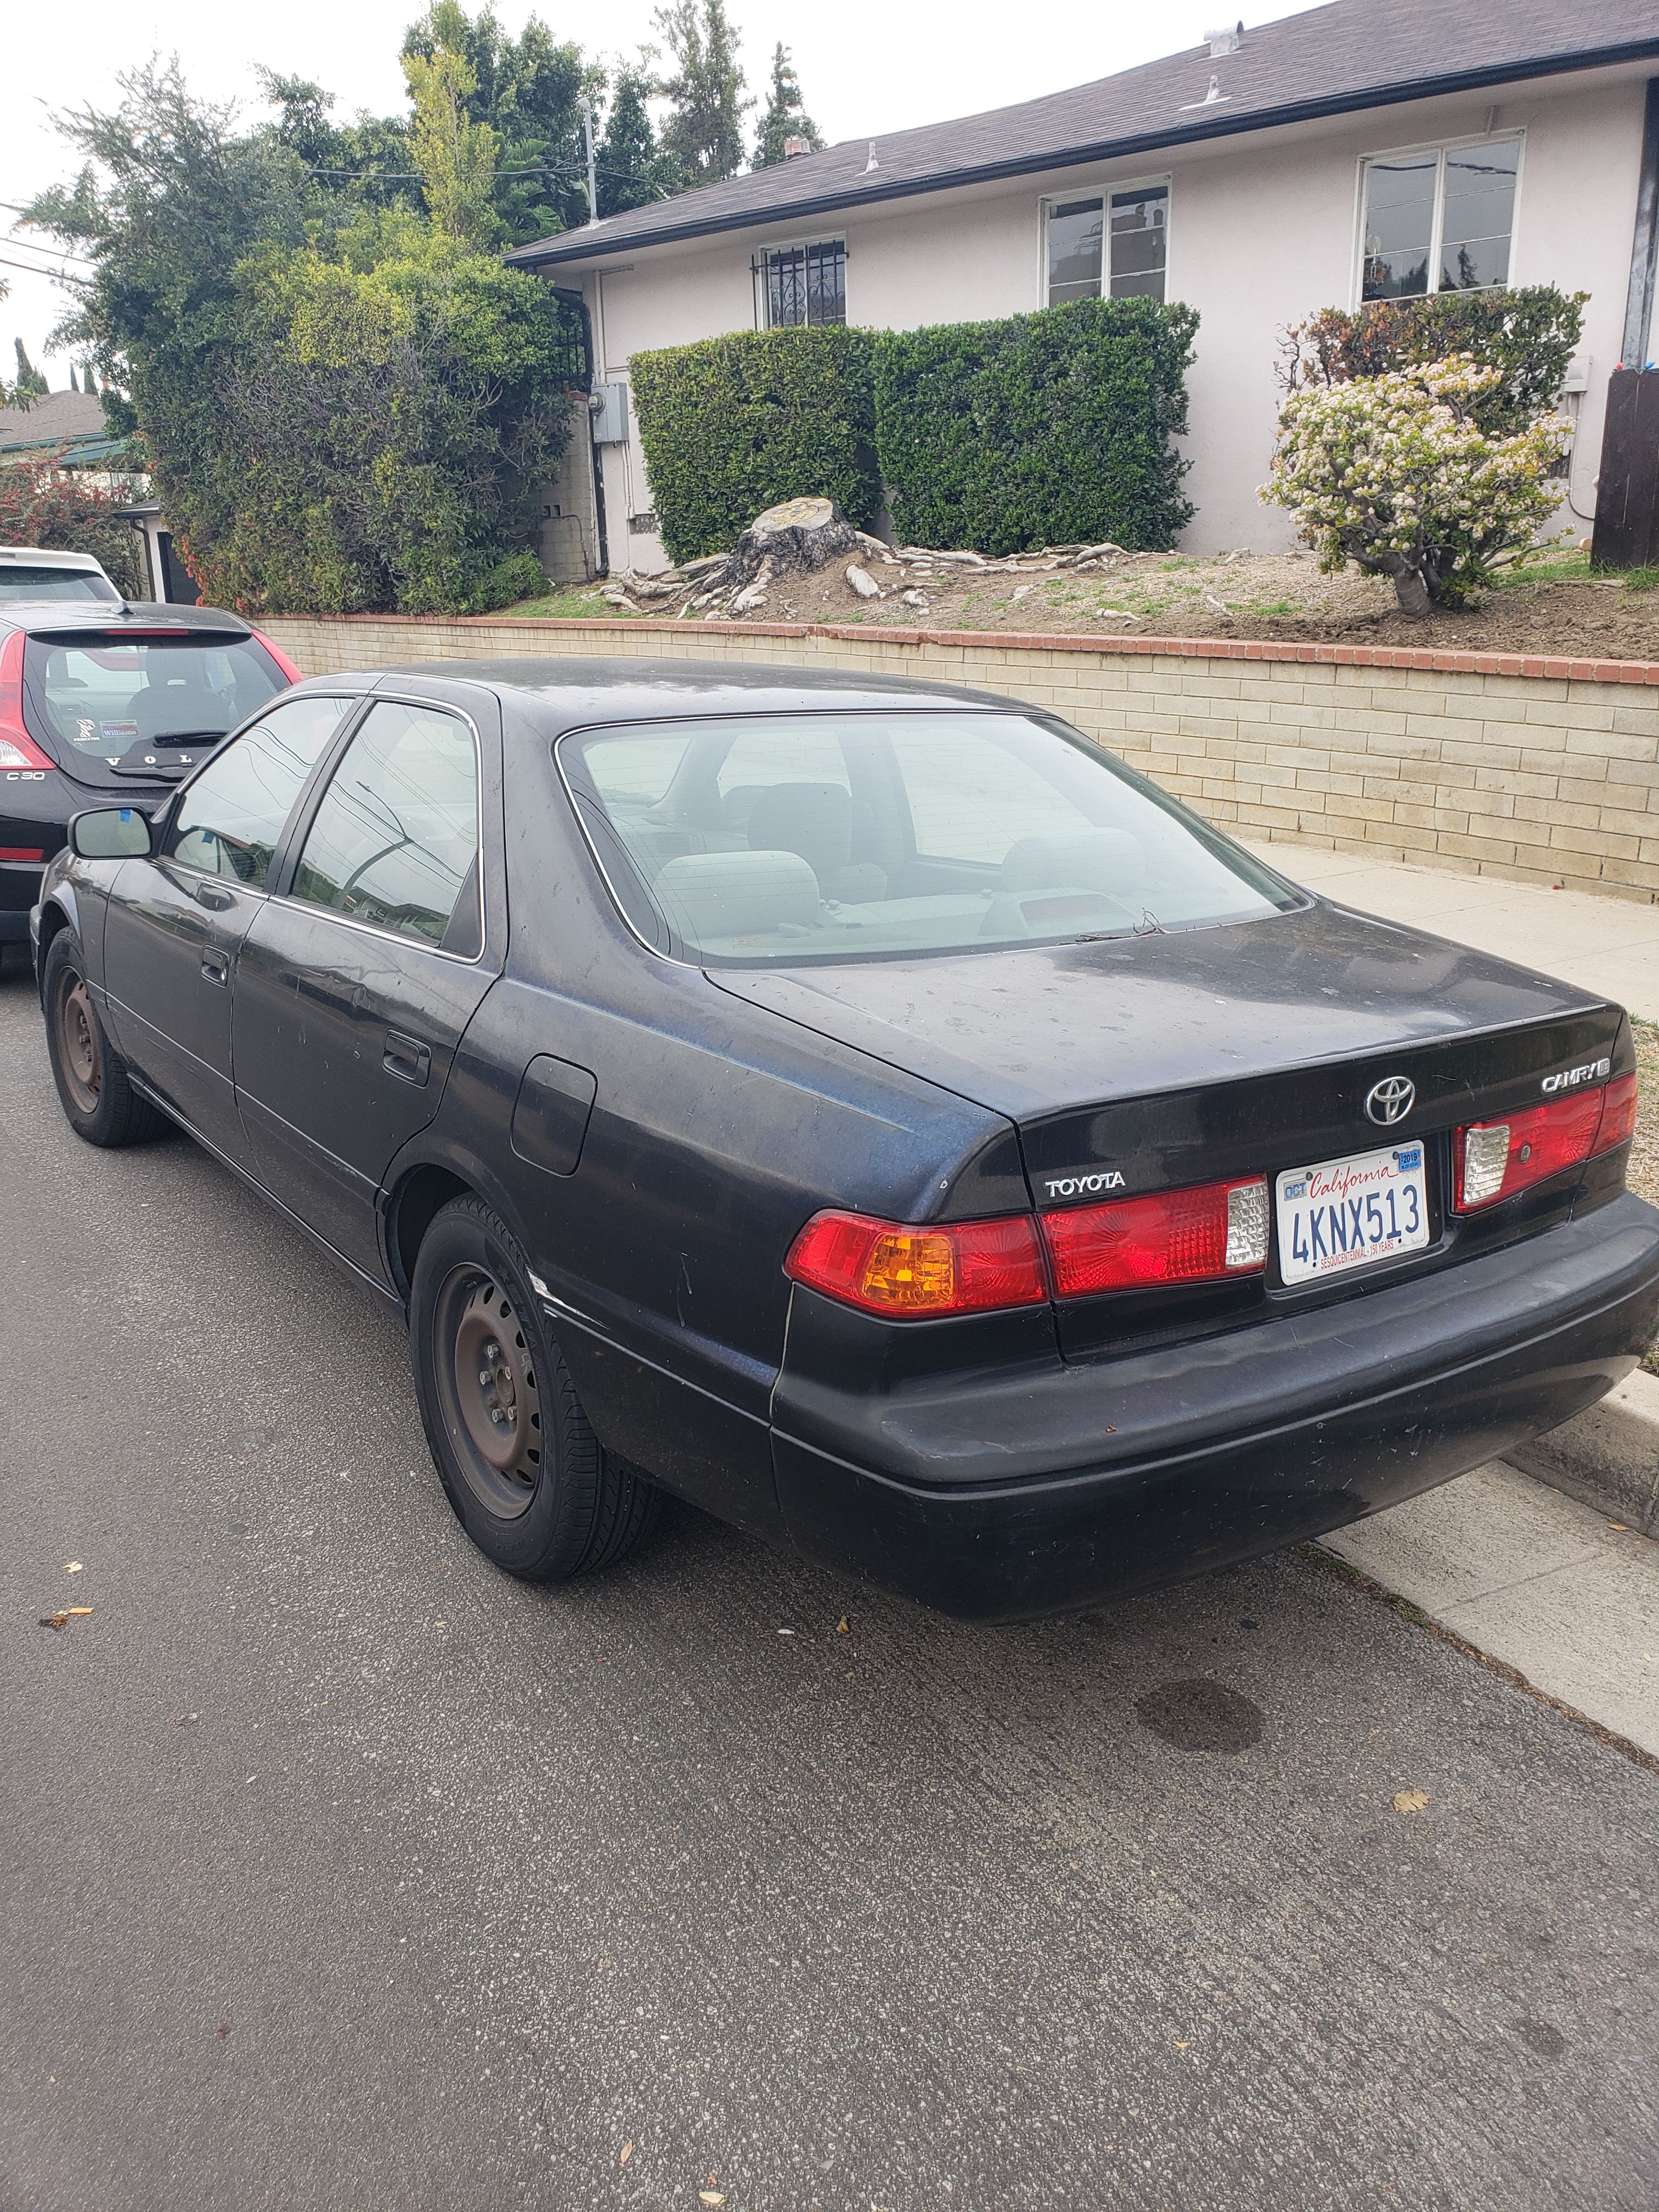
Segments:
[[[246,1166],[230,1066],[237,951],[343,697],[283,699],[190,779],[161,849],[115,876],[104,991],[135,1068],[226,1157]]]

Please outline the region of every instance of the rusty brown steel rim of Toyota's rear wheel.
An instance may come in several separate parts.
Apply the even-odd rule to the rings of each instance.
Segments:
[[[542,1480],[542,1396],[524,1323],[498,1276],[449,1272],[434,1312],[434,1356],[467,1486],[498,1520],[518,1520]]]

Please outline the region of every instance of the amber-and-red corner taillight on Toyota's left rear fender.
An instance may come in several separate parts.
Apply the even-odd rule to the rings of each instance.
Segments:
[[[814,1214],[790,1245],[783,1272],[827,1298],[891,1318],[982,1314],[1048,1298],[1031,1214],[936,1228]]]

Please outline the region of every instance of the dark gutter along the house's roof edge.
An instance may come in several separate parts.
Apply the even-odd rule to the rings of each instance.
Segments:
[[[860,186],[834,186],[812,199],[792,199],[787,206],[739,208],[728,215],[684,219],[657,230],[630,230],[615,241],[586,243],[586,230],[560,232],[555,239],[538,239],[535,246],[515,246],[504,261],[515,268],[551,268],[575,261],[599,261],[606,254],[630,254],[644,246],[677,246],[686,239],[717,237],[726,230],[761,230],[768,223],[794,223],[807,215],[838,215],[876,199],[914,199],[920,192],[949,192],[964,184],[998,184],[1006,177],[1033,177],[1046,168],[1077,168],[1084,161],[1117,161],[1126,155],[1164,153],[1175,146],[1203,146],[1210,139],[1245,137],[1252,131],[1274,131],[1285,124],[1321,122],[1332,115],[1352,115],[1360,108],[1405,106],[1411,100],[1431,100],[1444,93],[1484,91],[1495,84],[1522,84],[1533,77],[1577,75],[1586,69],[1610,69],[1619,62],[1641,62],[1659,55],[1659,35],[1628,40],[1621,46],[1597,46],[1573,55],[1540,55],[1528,62],[1491,64],[1489,69],[1467,69],[1455,75],[1409,77],[1405,84],[1369,86],[1356,93],[1327,93],[1318,100],[1296,100],[1281,108],[1263,108],[1243,115],[1221,115],[1214,122],[1181,124],[1172,131],[1137,133],[1133,137],[1095,139],[1086,146],[1060,146],[1048,153],[1018,155],[1006,161],[980,161],[969,168],[945,170],[938,177],[916,177],[891,181],[878,170],[876,179]],[[902,133],[891,133],[900,137]],[[668,204],[672,206],[672,201]],[[577,243],[582,241],[582,243]]]

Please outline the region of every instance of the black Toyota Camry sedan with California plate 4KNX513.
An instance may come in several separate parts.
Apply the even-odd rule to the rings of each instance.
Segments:
[[[675,1491],[947,1613],[1086,1606],[1444,1482],[1655,1329],[1617,1006],[1006,699],[316,679],[71,847],[71,1124],[181,1124],[407,1312],[518,1575]]]

